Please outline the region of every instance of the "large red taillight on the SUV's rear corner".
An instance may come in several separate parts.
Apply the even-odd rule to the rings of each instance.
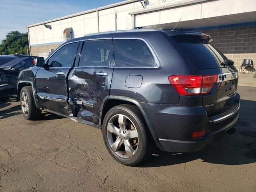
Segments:
[[[218,75],[172,75],[169,81],[180,95],[208,94]]]

